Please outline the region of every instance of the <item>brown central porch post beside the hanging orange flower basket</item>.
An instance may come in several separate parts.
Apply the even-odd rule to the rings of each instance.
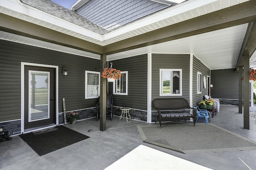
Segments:
[[[100,75],[107,61],[107,55],[100,55]],[[100,76],[100,131],[106,131],[106,78]]]

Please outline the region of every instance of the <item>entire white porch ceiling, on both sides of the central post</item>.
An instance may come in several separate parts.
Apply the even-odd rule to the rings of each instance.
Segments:
[[[193,54],[211,70],[235,68],[248,24],[202,33],[107,56],[108,61],[146,53]],[[100,55],[0,31],[0,39],[100,60]],[[255,53],[254,53],[255,55]],[[255,57],[255,56],[254,56]],[[254,57],[251,57],[253,59]],[[254,62],[255,64],[255,62]]]

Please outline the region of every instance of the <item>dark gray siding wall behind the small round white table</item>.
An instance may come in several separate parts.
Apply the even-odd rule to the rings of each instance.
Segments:
[[[140,55],[112,61],[113,68],[128,71],[128,95],[114,96],[114,114],[120,115],[120,107],[131,107],[133,119],[147,121],[147,84],[148,84],[148,55]],[[108,90],[112,92],[112,84]]]

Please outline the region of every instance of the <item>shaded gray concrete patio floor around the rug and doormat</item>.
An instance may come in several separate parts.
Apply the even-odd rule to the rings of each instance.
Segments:
[[[254,121],[250,119],[250,130],[243,129],[243,116],[238,113],[238,106],[221,105],[220,113],[214,115],[211,123],[256,141]],[[133,119],[128,119],[128,122],[124,119],[119,121],[118,116],[114,116],[113,120],[107,117],[106,123],[107,130],[104,132],[100,131],[100,121],[96,121],[95,118],[81,120],[74,125],[65,125],[90,138],[44,156],[38,156],[19,136],[14,136],[12,140],[0,143],[0,170],[104,170],[140,145],[213,170],[256,169],[256,150],[183,154],[142,142],[136,125],[155,125],[154,123]],[[218,143],[218,141],[212,142]],[[174,160],[169,159],[164,162],[175,163]],[[141,163],[145,164],[145,162]],[[127,160],[123,166],[127,167],[129,164],[131,162]],[[122,170],[122,166],[119,169]],[[180,167],[174,169],[178,170]]]

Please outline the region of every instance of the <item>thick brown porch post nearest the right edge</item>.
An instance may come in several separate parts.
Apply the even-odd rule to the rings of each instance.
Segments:
[[[245,54],[244,55],[244,129],[250,129],[249,70],[250,70],[249,55]]]

